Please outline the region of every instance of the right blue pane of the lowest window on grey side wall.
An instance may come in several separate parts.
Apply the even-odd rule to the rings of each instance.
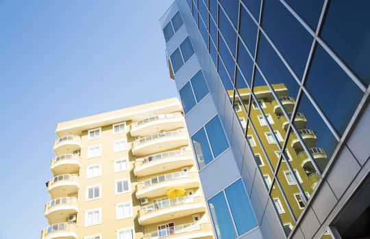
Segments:
[[[251,208],[251,203],[245,192],[243,182],[238,180],[225,189],[227,201],[229,201],[232,217],[238,230],[242,235],[257,226],[256,217]]]

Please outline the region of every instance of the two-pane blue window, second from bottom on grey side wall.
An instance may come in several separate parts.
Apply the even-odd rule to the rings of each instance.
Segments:
[[[199,169],[210,163],[229,147],[218,115],[196,132],[191,139]]]

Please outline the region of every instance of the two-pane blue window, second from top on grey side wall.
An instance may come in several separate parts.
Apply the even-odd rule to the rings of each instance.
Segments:
[[[187,37],[170,56],[173,73],[176,74],[193,54],[193,46],[191,45],[189,37]]]

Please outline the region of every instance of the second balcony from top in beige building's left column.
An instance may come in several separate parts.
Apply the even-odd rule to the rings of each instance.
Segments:
[[[81,167],[79,154],[62,154],[51,160],[50,170],[54,175],[77,173]]]

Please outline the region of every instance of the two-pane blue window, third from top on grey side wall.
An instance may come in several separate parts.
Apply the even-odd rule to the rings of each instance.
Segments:
[[[182,106],[184,113],[188,113],[190,109],[193,109],[197,103],[199,103],[207,94],[208,87],[204,75],[199,70],[188,83],[180,89],[180,97],[182,100]]]

